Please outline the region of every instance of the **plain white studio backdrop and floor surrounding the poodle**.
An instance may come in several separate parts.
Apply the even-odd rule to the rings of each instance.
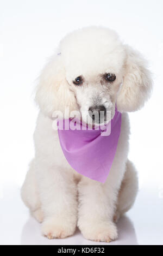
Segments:
[[[1,244],[89,243],[79,231],[67,240],[41,237],[19,194],[34,156],[35,79],[60,39],[89,25],[115,29],[149,60],[154,79],[151,100],[130,114],[129,158],[139,171],[140,192],[112,244],[163,244],[162,9],[162,0],[0,1]]]

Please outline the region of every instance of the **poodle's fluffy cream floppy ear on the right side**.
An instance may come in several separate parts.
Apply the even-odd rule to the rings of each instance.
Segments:
[[[124,67],[123,85],[117,97],[120,112],[136,111],[149,98],[152,90],[151,72],[141,54],[126,47],[127,59]]]

